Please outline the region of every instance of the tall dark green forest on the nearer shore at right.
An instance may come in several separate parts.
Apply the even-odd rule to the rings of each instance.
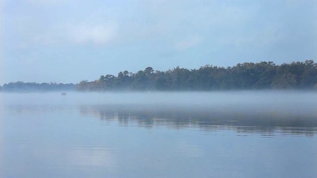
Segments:
[[[199,69],[176,67],[137,73],[102,75],[99,80],[81,81],[79,91],[105,90],[223,90],[223,89],[317,89],[317,63],[313,60],[276,65],[245,62],[233,67],[205,65]]]

